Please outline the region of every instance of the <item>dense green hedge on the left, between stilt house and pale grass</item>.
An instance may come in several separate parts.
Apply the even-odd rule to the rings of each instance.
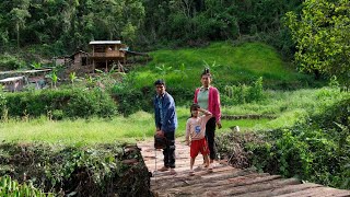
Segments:
[[[48,116],[62,117],[110,117],[116,114],[116,104],[110,95],[100,89],[44,90],[1,94],[0,112],[7,117]]]

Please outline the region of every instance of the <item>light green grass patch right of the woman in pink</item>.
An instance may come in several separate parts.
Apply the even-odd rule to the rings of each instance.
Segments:
[[[225,106],[222,108],[222,114],[275,116],[275,119],[257,121],[256,125],[246,128],[247,130],[275,129],[292,126],[310,114],[317,114],[323,108],[342,100],[345,96],[349,96],[348,92],[340,92],[339,89],[330,88],[267,91],[266,94],[266,100],[259,103]],[[242,124],[247,123],[243,120]]]

